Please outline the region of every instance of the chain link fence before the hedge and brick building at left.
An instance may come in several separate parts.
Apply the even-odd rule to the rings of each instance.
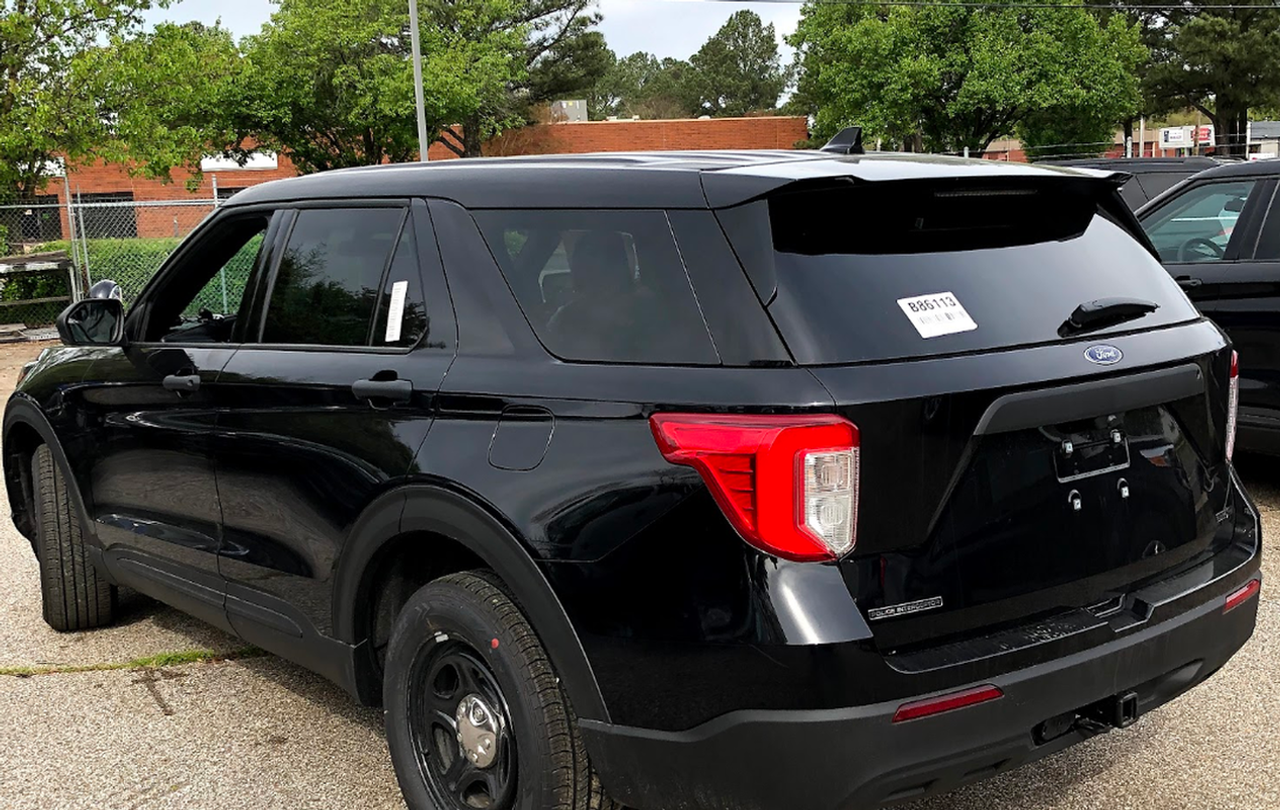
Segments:
[[[0,246],[6,246],[0,248],[0,255],[6,255],[0,258],[0,325],[50,326],[68,302],[78,301],[102,279],[120,285],[125,303],[134,301],[182,238],[215,206],[214,200],[83,197],[70,205],[0,206]],[[248,269],[229,266],[224,271],[225,294],[243,289]],[[205,296],[210,301],[193,306],[223,311],[221,294],[209,289]]]

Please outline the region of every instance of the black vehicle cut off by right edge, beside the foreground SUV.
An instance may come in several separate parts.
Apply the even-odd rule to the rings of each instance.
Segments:
[[[1196,175],[1138,211],[1197,308],[1240,354],[1240,447],[1280,454],[1280,160]]]

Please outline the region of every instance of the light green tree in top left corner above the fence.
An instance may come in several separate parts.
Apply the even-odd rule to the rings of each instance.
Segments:
[[[28,197],[54,161],[92,154],[104,122],[74,63],[141,29],[151,0],[5,0],[0,14],[0,198]]]

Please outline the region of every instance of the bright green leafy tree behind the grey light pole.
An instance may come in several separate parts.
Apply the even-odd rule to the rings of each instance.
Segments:
[[[428,132],[490,109],[522,78],[513,0],[460,0],[422,20]],[[242,127],[303,171],[406,161],[419,152],[408,10],[401,0],[280,0],[244,45]]]

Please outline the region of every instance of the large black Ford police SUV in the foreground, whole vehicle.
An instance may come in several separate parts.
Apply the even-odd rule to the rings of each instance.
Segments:
[[[1261,577],[1231,349],[1115,186],[686,152],[243,191],[9,401],[45,614],[128,585],[381,703],[415,810],[870,807],[1128,726]]]

